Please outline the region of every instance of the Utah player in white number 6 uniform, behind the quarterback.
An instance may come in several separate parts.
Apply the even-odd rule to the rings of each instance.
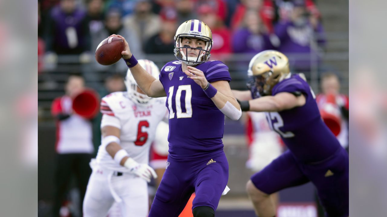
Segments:
[[[147,59],[139,65],[157,78],[158,67]],[[85,217],[106,217],[114,202],[122,216],[146,217],[149,211],[147,182],[156,178],[148,166],[149,149],[156,127],[166,115],[165,98],[153,99],[141,92],[128,70],[127,92],[115,92],[101,100],[102,142],[83,204]]]

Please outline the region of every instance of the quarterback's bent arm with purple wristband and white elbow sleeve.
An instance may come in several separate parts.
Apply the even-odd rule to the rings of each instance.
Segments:
[[[211,95],[209,97],[211,98],[212,102],[214,102],[216,107],[219,108],[219,110],[221,110],[224,115],[232,120],[238,120],[241,117],[241,108],[239,103],[236,101],[233,92],[231,92],[228,81],[214,81],[211,83],[211,87],[211,85],[209,85],[210,83],[205,78],[203,71],[192,66],[187,66],[187,69],[188,70],[185,70],[184,73],[190,76],[190,78],[194,80],[195,83],[200,85],[203,90],[206,89],[204,92],[207,94],[207,96],[209,96],[209,94]],[[213,88],[215,88],[215,90]],[[208,91],[211,91],[211,93]],[[215,93],[215,95],[213,95],[213,93]]]

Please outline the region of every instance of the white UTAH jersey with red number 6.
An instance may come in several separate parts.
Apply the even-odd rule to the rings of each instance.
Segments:
[[[142,106],[132,102],[127,97],[127,92],[111,93],[101,100],[101,128],[111,125],[121,129],[121,147],[138,163],[147,164],[156,127],[168,114],[165,102],[166,97],[154,98],[147,106]],[[128,172],[102,146],[99,146],[96,161],[104,168]]]

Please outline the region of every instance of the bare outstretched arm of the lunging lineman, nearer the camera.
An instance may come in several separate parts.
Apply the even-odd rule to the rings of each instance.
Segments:
[[[265,96],[240,102],[243,111],[279,112],[305,105],[304,95],[296,96],[288,92],[280,92],[274,96]]]

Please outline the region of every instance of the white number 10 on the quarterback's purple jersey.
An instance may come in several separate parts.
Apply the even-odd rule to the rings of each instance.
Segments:
[[[173,90],[175,89],[175,86],[171,86],[169,88],[169,96],[168,96],[168,109],[170,111],[170,119],[175,117],[175,112],[173,112],[172,108],[172,96],[173,96]],[[183,99],[185,103],[185,112],[182,112],[182,92],[185,91],[185,98]],[[192,98],[192,89],[191,85],[180,85],[177,88],[176,95],[175,95],[175,105],[176,105],[176,116],[177,118],[185,118],[185,117],[192,117],[192,104],[191,104],[191,98]]]

